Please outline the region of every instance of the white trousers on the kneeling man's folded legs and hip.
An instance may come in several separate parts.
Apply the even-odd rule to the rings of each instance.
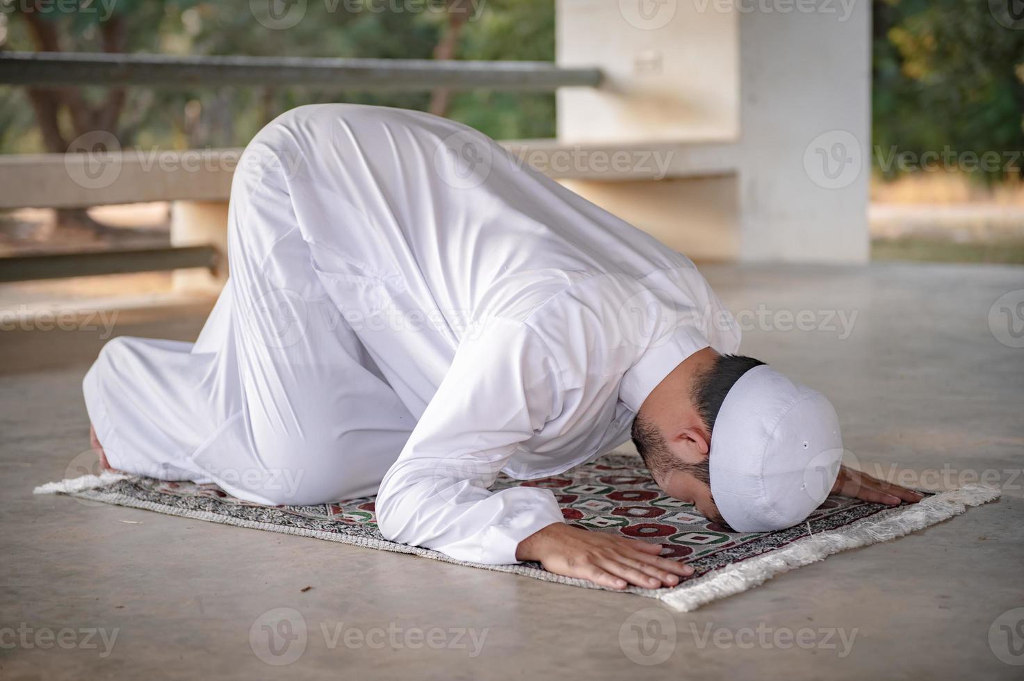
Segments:
[[[258,162],[236,172],[230,278],[197,342],[111,340],[85,377],[86,407],[111,465],[129,473],[214,481],[262,504],[373,495],[416,419],[311,267],[287,164],[270,161],[275,134],[257,136],[246,155]]]

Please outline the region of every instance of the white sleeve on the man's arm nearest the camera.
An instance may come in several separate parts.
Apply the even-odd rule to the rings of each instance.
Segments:
[[[560,401],[558,370],[526,324],[467,335],[377,496],[385,538],[459,560],[514,563],[519,542],[562,514],[549,490],[487,487]]]

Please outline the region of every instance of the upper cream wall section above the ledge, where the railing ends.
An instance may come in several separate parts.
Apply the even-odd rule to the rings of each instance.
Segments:
[[[558,91],[563,142],[700,141],[739,132],[737,15],[691,0],[558,0],[560,66],[597,66],[599,89]]]

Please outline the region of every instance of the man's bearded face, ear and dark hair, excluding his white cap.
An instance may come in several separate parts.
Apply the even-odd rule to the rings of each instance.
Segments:
[[[633,421],[633,443],[669,496],[695,504],[705,517],[726,525],[711,493],[711,436],[729,390],[740,376],[764,363],[741,354],[718,354],[711,348],[693,358],[699,361],[685,375],[689,389],[676,394],[683,399],[671,410],[675,414],[660,411],[648,416],[641,409]],[[663,422],[668,434],[655,421]]]

